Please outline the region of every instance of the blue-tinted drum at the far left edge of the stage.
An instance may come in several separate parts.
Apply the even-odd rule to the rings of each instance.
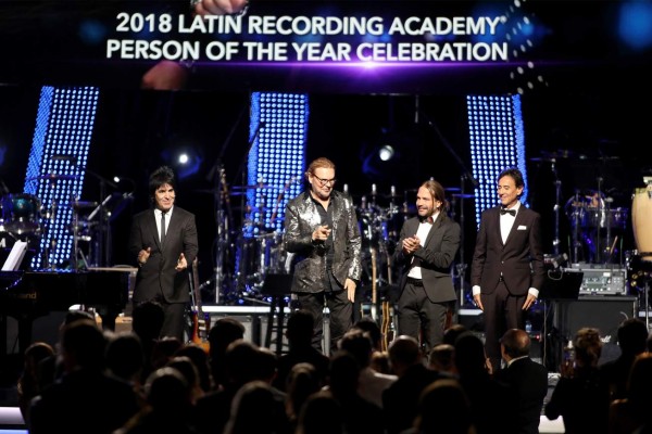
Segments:
[[[2,197],[4,230],[15,234],[40,230],[40,200],[32,194],[8,194]]]

